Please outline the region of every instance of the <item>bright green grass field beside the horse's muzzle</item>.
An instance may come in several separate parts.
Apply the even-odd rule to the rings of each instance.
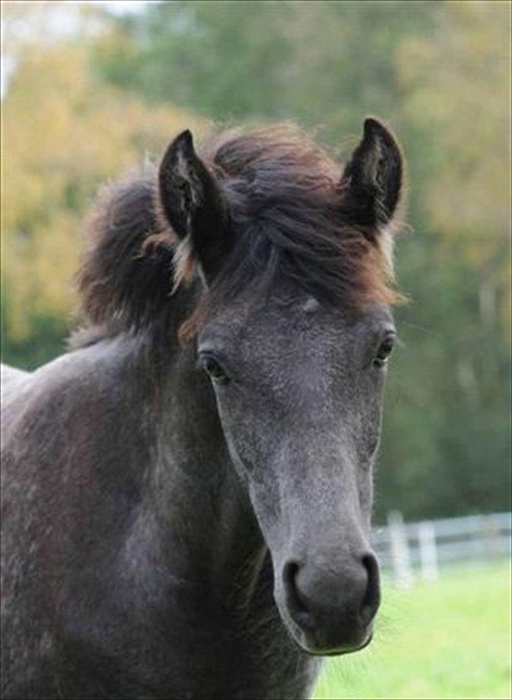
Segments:
[[[384,588],[373,643],[326,663],[316,700],[511,699],[510,564]]]

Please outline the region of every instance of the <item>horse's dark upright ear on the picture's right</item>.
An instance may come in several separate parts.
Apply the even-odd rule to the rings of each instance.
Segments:
[[[350,221],[373,229],[395,215],[402,191],[403,160],[394,136],[372,117],[364,120],[364,134],[345,166],[341,179],[343,213]]]

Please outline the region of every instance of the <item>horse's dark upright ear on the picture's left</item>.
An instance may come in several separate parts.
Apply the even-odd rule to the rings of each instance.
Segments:
[[[172,141],[158,172],[160,204],[181,239],[177,282],[198,262],[209,283],[222,267],[232,243],[229,211],[219,184],[196,154],[188,129]]]

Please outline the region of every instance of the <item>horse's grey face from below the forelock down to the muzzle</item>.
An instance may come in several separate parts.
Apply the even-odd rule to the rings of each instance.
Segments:
[[[371,470],[394,335],[383,309],[349,318],[314,298],[258,310],[248,298],[198,338],[271,552],[276,604],[311,653],[354,651],[371,637],[380,600]]]

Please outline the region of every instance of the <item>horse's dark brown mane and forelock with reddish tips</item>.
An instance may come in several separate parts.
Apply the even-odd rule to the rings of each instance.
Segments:
[[[267,291],[276,279],[288,280],[338,307],[399,300],[376,231],[345,215],[340,166],[298,129],[224,132],[199,153],[224,191],[236,245],[188,309],[185,336],[197,331],[209,305],[251,280]],[[177,236],[162,217],[157,191],[157,168],[146,165],[105,186],[86,219],[88,246],[77,281],[86,322],[103,327],[103,335],[171,322],[181,291],[196,279],[191,254],[174,255]]]

